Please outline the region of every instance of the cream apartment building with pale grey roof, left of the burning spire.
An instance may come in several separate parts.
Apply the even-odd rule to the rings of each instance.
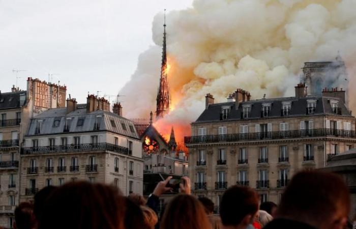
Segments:
[[[142,194],[142,142],[133,123],[104,98],[41,112],[29,122],[20,157],[20,201],[45,186],[86,180]]]

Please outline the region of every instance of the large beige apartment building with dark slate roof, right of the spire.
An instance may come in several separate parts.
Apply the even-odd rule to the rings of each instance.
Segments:
[[[293,174],[324,167],[330,155],[356,146],[343,90],[309,96],[300,83],[294,97],[250,97],[238,89],[227,102],[214,103],[207,94],[205,110],[185,137],[193,193],[211,198],[217,209],[235,184],[255,188],[261,202],[278,203]]]

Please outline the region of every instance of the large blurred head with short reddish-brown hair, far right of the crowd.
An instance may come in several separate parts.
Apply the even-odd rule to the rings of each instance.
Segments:
[[[319,229],[342,228],[350,210],[349,190],[336,174],[302,171],[293,176],[277,210],[278,218],[305,222]]]

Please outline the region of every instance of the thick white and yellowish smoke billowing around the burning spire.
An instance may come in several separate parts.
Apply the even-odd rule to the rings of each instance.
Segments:
[[[190,9],[168,13],[174,110],[161,122],[195,121],[206,93],[216,102],[225,101],[236,88],[250,91],[255,99],[292,96],[304,62],[331,61],[338,51],[355,85],[354,9],[356,0],[195,0]],[[155,110],[162,22],[162,14],[154,18],[157,46],[141,54],[136,72],[120,92],[127,96],[126,117],[148,117]]]

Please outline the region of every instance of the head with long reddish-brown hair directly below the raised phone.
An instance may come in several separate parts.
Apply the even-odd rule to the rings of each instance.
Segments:
[[[204,207],[192,195],[179,194],[164,211],[161,229],[211,229]]]

